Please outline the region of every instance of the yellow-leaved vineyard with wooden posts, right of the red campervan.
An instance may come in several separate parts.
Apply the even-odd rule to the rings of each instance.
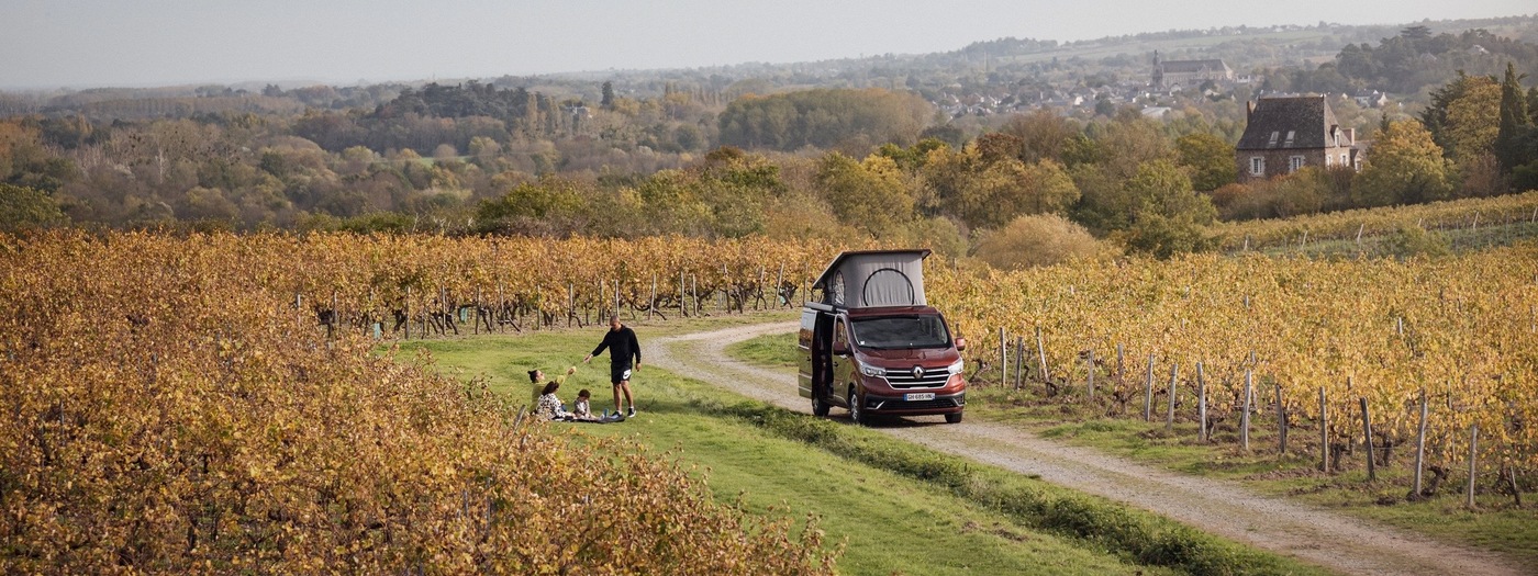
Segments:
[[[980,344],[974,358],[1006,366],[995,382],[1024,372],[1050,396],[1094,393],[1112,413],[1160,419],[1206,412],[1209,429],[1280,409],[1293,450],[1326,468],[1361,442],[1363,412],[1380,459],[1413,450],[1424,395],[1433,472],[1467,465],[1475,427],[1481,470],[1515,484],[1538,467],[1532,244],[1438,261],[1209,255],[935,273],[929,295]]]

